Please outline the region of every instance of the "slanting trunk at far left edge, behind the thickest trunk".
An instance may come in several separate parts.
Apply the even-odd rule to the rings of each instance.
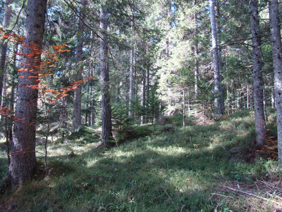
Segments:
[[[12,0],[6,1],[4,21],[3,21],[4,30],[10,27],[10,19],[12,16],[11,2]],[[4,71],[5,71],[6,51],[7,51],[7,42],[6,42],[6,38],[4,38],[3,41],[0,43],[0,94],[1,94],[1,97],[4,96],[3,88],[4,88]],[[2,98],[1,98],[1,106],[2,106]]]

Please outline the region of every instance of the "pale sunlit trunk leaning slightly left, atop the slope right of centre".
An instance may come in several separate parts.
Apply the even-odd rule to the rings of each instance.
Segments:
[[[212,53],[213,53],[213,64],[214,64],[214,113],[216,115],[221,115],[223,114],[223,108],[221,106],[219,55],[218,55],[218,46],[217,46],[217,32],[216,32],[214,1],[215,0],[209,0],[211,26],[212,26]]]

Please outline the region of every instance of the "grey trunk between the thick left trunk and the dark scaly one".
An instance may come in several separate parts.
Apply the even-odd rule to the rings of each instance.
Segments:
[[[81,5],[85,6],[85,0],[81,0]],[[80,62],[82,61],[82,53],[83,53],[83,19],[84,13],[83,8],[80,9],[80,18],[78,21],[78,37],[77,37],[77,48],[76,48],[76,63],[78,64],[78,70],[75,77],[75,81],[81,80],[82,75],[82,67]],[[73,94],[73,129],[75,132],[79,125],[81,125],[81,85],[78,86],[77,89],[74,90]]]

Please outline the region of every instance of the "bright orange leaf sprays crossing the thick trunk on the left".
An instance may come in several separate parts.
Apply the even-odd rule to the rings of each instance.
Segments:
[[[68,96],[67,92],[69,92],[70,90],[74,90],[78,88],[81,84],[83,84],[85,81],[94,78],[93,76],[93,77],[86,77],[86,79],[84,80],[78,80],[76,82],[73,82],[70,86],[62,87],[61,91],[48,89],[47,85],[42,84],[44,81],[41,81],[41,78],[52,75],[51,73],[52,68],[55,67],[54,63],[59,60],[59,55],[62,54],[63,52],[70,51],[70,49],[66,48],[67,44],[63,43],[58,46],[53,46],[53,50],[55,50],[55,52],[43,51],[43,49],[40,49],[36,43],[31,42],[30,44],[26,44],[25,38],[18,36],[16,34],[9,34],[4,29],[1,28],[0,28],[0,39],[2,40],[5,39],[8,40],[9,42],[13,42],[14,44],[20,44],[22,46],[23,50],[14,53],[14,55],[19,55],[21,57],[28,58],[26,62],[21,63],[22,65],[28,68],[22,67],[18,69],[17,72],[30,72],[32,74],[26,74],[27,76],[19,76],[19,78],[34,79],[36,85],[22,84],[19,85],[19,87],[38,89],[41,101],[45,102],[44,99],[46,99],[49,101],[49,104],[53,104],[57,100]],[[41,60],[41,58],[43,58],[44,60]]]

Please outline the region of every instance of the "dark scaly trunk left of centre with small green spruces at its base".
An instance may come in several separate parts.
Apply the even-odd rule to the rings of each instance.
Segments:
[[[112,139],[112,117],[109,94],[109,57],[108,57],[108,38],[107,38],[107,8],[100,8],[100,67],[101,67],[101,93],[102,93],[102,144],[109,146]]]

